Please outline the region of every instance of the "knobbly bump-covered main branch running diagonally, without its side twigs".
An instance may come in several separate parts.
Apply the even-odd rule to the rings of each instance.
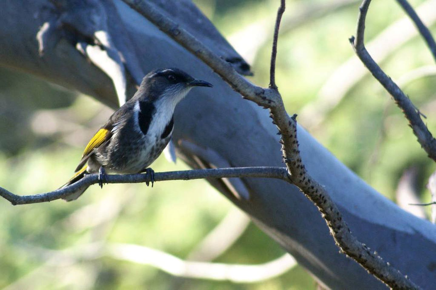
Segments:
[[[174,21],[165,17],[150,2],[143,0],[123,1],[211,67],[233,90],[242,94],[242,97],[270,110],[273,122],[282,135],[280,143],[282,143],[282,153],[290,176],[289,178],[307,198],[317,205],[324,220],[327,222],[337,246],[343,253],[352,257],[368,270],[369,273],[386,283],[389,287],[395,289],[419,289],[407,277],[404,277],[399,270],[384,262],[377,253],[371,252],[369,247],[359,242],[351,234],[351,230],[344,222],[341,213],[327,191],[307,173],[298,148],[296,115],[292,118],[289,117],[278,90],[261,88],[249,83],[228,63],[225,63],[224,60],[215,55],[215,53],[186,30],[179,27]]]

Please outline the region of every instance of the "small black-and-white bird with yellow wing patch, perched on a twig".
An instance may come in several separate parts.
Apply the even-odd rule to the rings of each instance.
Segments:
[[[75,175],[61,188],[99,173],[103,186],[107,173],[151,174],[148,166],[162,153],[173,133],[174,109],[193,87],[212,87],[177,68],[153,70],[142,80],[135,95],[119,107],[95,133],[82,155]],[[153,183],[152,183],[153,184]],[[148,185],[148,183],[147,183]],[[85,189],[64,199],[77,199]]]

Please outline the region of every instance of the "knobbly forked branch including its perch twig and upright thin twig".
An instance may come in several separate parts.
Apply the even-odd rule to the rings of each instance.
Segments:
[[[218,57],[190,33],[187,33],[186,30],[179,27],[177,23],[174,23],[168,17],[160,13],[160,11],[157,10],[150,1],[124,0],[124,2],[154,23],[160,30],[167,33],[167,35],[196,55],[199,59],[203,60],[204,63],[211,67],[230,86],[232,86],[235,91],[241,93],[245,99],[251,100],[259,106],[269,109],[273,122],[278,127],[282,136],[280,142],[282,143],[282,153],[286,168],[268,167],[268,170],[261,170],[259,168],[228,168],[224,171],[219,171],[223,169],[187,170],[181,172],[156,173],[155,180],[194,179],[205,177],[273,177],[286,180],[287,182],[293,183],[299,187],[306,197],[316,204],[342,253],[353,258],[362,267],[368,270],[369,273],[386,283],[389,287],[395,289],[419,289],[419,287],[412,283],[407,277],[404,277],[402,273],[386,263],[377,253],[371,251],[369,247],[357,240],[357,238],[351,233],[347,223],[344,222],[341,212],[338,210],[333,200],[331,200],[326,189],[316,180],[313,180],[307,172],[300,156],[296,132],[296,115],[290,117],[287,114],[280,93],[277,88],[273,86],[274,81],[271,82],[272,85],[269,88],[262,88],[253,85],[245,80],[245,78],[241,77],[229,63],[222,60],[221,57]],[[284,0],[281,0],[281,3],[283,3],[281,7],[283,7],[284,10]],[[281,14],[283,14],[283,12],[280,13],[279,9],[278,17],[281,17]],[[279,22],[279,20],[276,20],[276,31],[278,31]],[[277,43],[275,41],[273,44],[273,50],[275,51],[277,49],[276,45]],[[272,53],[272,62],[274,63],[275,54],[276,52]],[[273,71],[274,68],[272,68],[272,72]],[[272,76],[273,75],[274,74],[272,74]],[[274,78],[272,78],[272,80],[274,80]],[[214,174],[211,175],[211,173]],[[107,179],[110,183],[131,183],[149,180],[148,176],[145,174],[109,175]],[[20,197],[8,192],[7,190],[2,190],[1,188],[0,195],[15,204],[24,203],[24,200],[27,201],[27,203],[43,202],[53,200],[54,197],[65,197],[69,193],[75,191],[77,187],[85,187],[97,182],[98,176],[95,174],[84,177],[79,182],[74,183],[69,187],[65,187],[63,189],[64,191],[57,190],[51,193],[46,193],[44,196],[37,195]]]

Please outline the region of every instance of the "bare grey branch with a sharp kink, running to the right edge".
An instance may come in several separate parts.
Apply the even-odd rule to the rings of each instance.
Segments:
[[[360,7],[360,14],[358,19],[358,28],[356,37],[350,38],[350,43],[354,51],[364,63],[365,67],[372,73],[379,83],[392,95],[395,103],[402,109],[405,117],[409,120],[409,126],[412,128],[413,133],[418,138],[419,144],[426,151],[428,156],[436,161],[436,140],[433,138],[432,133],[428,130],[426,124],[421,119],[419,110],[416,110],[415,105],[405,95],[405,93],[398,87],[398,85],[386,73],[381,70],[378,64],[372,59],[364,46],[364,31],[365,31],[365,18],[368,12],[371,0],[364,0]]]

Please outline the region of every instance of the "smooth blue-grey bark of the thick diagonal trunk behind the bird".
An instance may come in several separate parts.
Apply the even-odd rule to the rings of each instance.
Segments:
[[[90,65],[67,41],[61,40],[54,51],[46,52],[42,58],[38,56],[35,37],[45,21],[47,3],[44,0],[0,1],[0,65],[90,94],[115,107],[117,97],[109,78]],[[283,166],[279,136],[266,110],[243,100],[209,67],[124,3],[118,0],[115,3],[123,21],[117,24],[122,24],[133,45],[129,49],[136,53],[143,71],[175,66],[215,85],[213,90],[199,89],[191,93],[177,108],[176,145],[178,140],[189,140],[211,148],[234,167]],[[175,11],[171,15],[176,19],[181,17]],[[195,30],[200,17],[201,14],[197,14],[185,22],[191,21],[191,29]],[[197,37],[203,40],[202,33],[208,34],[210,29],[198,33]],[[219,37],[208,37],[207,43],[217,53],[223,53],[220,47],[228,45],[223,41]],[[130,90],[134,90],[133,87]],[[381,196],[303,128],[299,127],[298,134],[308,171],[327,188],[354,235],[419,286],[432,289],[436,284],[436,227]],[[357,263],[339,253],[320,213],[296,187],[281,180],[251,178],[243,181],[250,190],[249,201],[238,200],[224,190],[225,187],[214,184],[317,280],[333,289],[385,288]]]

